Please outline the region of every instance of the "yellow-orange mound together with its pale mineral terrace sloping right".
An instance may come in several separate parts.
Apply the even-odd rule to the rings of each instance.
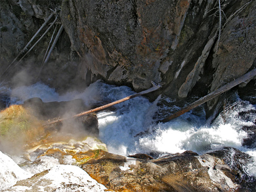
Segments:
[[[54,127],[43,127],[44,122],[21,105],[11,105],[2,110],[0,120],[1,150],[10,152],[10,148],[18,148],[25,160],[34,161],[41,156],[49,156],[68,164],[65,156],[73,157],[77,153],[96,149],[107,151],[104,143],[96,137],[87,136],[86,132],[81,131],[78,136],[72,131],[68,133]]]

